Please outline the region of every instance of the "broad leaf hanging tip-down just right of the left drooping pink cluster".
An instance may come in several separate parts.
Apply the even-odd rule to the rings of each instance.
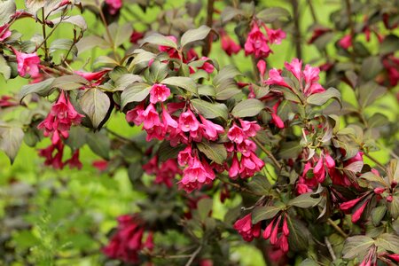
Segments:
[[[106,113],[108,113],[108,109],[111,106],[111,101],[106,93],[97,88],[92,88],[82,95],[79,103],[82,106],[82,111],[89,116],[94,129],[98,129],[99,124],[104,121]]]

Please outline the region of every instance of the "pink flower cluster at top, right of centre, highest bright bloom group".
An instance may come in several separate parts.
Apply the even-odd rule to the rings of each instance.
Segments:
[[[270,53],[273,52],[269,45],[272,43],[280,44],[281,41],[286,38],[286,33],[281,29],[271,29],[266,27],[264,23],[262,23],[262,27],[266,34],[262,33],[257,22],[254,21],[252,23],[251,31],[249,32],[244,45],[246,56],[254,54],[256,59],[267,58]]]

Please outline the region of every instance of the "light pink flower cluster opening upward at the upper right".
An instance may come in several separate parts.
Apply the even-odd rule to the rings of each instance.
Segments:
[[[306,65],[305,69],[302,71],[302,61],[299,59],[293,59],[291,63],[286,62],[285,66],[300,83],[300,90],[304,96],[309,97],[312,94],[325,91],[318,83],[320,74],[320,69],[318,67]],[[276,68],[270,69],[269,79],[266,81],[266,84],[286,87],[293,90],[284,77],[281,76],[281,71]]]

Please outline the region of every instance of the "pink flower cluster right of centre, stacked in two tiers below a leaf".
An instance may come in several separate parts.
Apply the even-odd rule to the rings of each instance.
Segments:
[[[231,178],[237,178],[237,176],[241,178],[251,177],[264,167],[263,160],[256,156],[256,145],[249,139],[249,137],[254,137],[261,127],[256,121],[240,119],[239,123],[241,127],[235,122],[233,123],[227,133],[231,142],[225,144],[227,151],[232,153],[231,167],[228,169]]]

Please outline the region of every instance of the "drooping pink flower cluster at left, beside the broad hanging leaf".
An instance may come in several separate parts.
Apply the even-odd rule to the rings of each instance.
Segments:
[[[43,130],[45,137],[51,137],[51,145],[45,149],[39,150],[39,155],[44,157],[46,165],[52,165],[53,168],[63,168],[69,164],[71,168],[82,168],[79,160],[79,150],[76,150],[72,158],[62,161],[64,152],[64,143],[62,139],[69,137],[69,129],[71,126],[81,123],[83,115],[77,113],[72,106],[69,98],[65,96],[63,90],[59,94],[59,99],[51,107],[50,113],[37,126],[37,129]],[[56,152],[54,154],[54,152]]]

